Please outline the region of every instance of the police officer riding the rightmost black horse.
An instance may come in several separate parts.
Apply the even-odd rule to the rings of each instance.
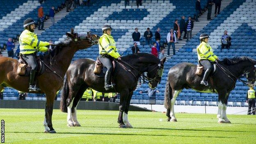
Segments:
[[[199,63],[206,69],[201,84],[206,86],[208,85],[208,76],[213,71],[212,63],[217,63],[219,61],[219,58],[214,55],[212,47],[208,44],[208,38],[208,34],[201,34],[199,37],[200,44],[197,46],[197,57]]]

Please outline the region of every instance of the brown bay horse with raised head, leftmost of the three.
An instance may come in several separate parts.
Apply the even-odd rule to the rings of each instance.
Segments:
[[[62,88],[63,78],[73,55],[80,49],[88,48],[98,43],[99,37],[97,35],[90,32],[87,34],[87,39],[80,39],[78,34],[71,29],[71,33],[66,33],[66,40],[56,45],[55,50],[52,52],[55,53],[54,57],[46,55],[43,58],[43,62],[48,67],[46,66],[46,71],[37,77],[37,85],[41,89],[38,93],[46,94],[45,119],[43,123],[45,133],[56,133],[52,124],[53,102],[57,91]],[[29,77],[17,74],[17,64],[17,59],[0,57],[0,91],[3,89],[2,85],[5,85],[18,91],[28,92]]]

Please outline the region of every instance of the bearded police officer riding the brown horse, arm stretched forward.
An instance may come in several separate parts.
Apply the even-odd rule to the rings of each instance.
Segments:
[[[37,39],[37,34],[34,33],[35,21],[31,18],[27,18],[23,22],[24,31],[21,33],[19,38],[21,57],[31,66],[30,80],[29,80],[29,91],[40,91],[34,84],[34,78],[37,71],[37,52],[49,51],[46,46],[52,45],[53,43],[48,43],[45,41],[39,41]]]

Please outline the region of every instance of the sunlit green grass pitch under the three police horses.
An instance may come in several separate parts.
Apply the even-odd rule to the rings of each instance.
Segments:
[[[256,144],[256,116],[177,113],[167,122],[161,112],[129,112],[134,128],[118,128],[118,111],[78,110],[82,127],[67,127],[66,113],[53,111],[56,134],[43,133],[43,109],[0,109],[7,144]],[[162,120],[162,121],[161,121]]]

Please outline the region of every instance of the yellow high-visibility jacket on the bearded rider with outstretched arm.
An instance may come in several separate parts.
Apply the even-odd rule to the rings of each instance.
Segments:
[[[46,52],[48,50],[47,47],[50,43],[46,41],[39,41],[37,39],[37,34],[34,32],[30,32],[29,30],[24,30],[21,33],[19,38],[20,50],[22,54],[31,54],[34,52]]]

